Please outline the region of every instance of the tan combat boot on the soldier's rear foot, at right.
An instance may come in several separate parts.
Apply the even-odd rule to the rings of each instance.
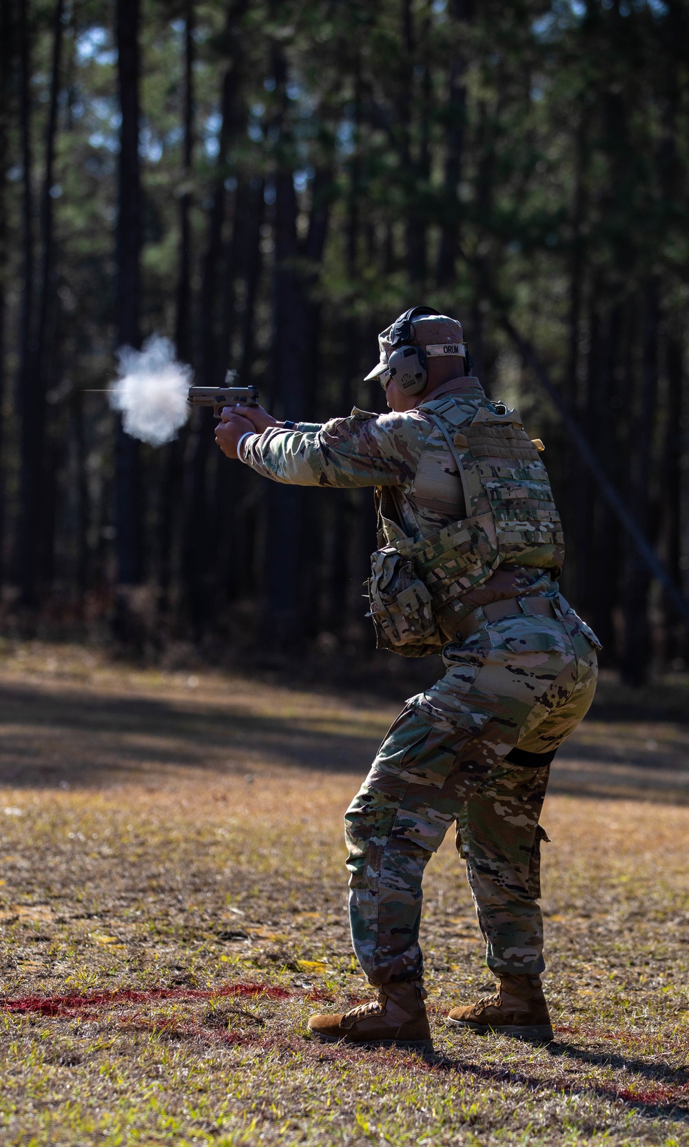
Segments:
[[[447,1016],[455,1028],[469,1028],[483,1036],[494,1031],[517,1039],[548,1043],[553,1028],[540,976],[500,976],[495,996],[484,996],[469,1007],[455,1007]]]

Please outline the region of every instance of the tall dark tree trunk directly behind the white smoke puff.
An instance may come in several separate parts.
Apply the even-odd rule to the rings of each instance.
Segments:
[[[122,112],[119,149],[119,216],[117,224],[117,341],[119,346],[140,345],[141,292],[141,174],[139,161],[139,0],[117,0],[117,73]],[[115,529],[117,580],[120,592],[116,632],[135,640],[127,607],[126,587],[143,576],[143,496],[139,443],[124,432],[116,415]]]

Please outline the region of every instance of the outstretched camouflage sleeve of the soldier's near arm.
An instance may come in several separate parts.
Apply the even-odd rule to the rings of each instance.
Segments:
[[[323,426],[299,422],[248,437],[243,461],[274,482],[299,486],[399,486],[416,474],[429,420],[417,411],[353,411]]]

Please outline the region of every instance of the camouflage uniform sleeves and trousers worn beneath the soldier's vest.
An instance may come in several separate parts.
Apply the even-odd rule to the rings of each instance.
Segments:
[[[465,475],[459,481],[439,412],[456,428],[485,421],[495,408],[476,379],[454,380],[405,413],[376,416],[355,409],[322,427],[271,428],[246,439],[244,461],[277,482],[375,486],[382,540],[417,545],[437,538],[448,523],[485,510],[480,500],[473,504]],[[468,439],[456,435],[454,440]],[[492,485],[506,487],[500,458],[492,465],[492,470],[484,467],[495,477]],[[535,473],[535,463],[529,465]],[[551,499],[540,470],[540,489]],[[553,554],[561,536],[551,500],[542,502],[541,493],[539,502],[526,481],[531,471],[518,473],[525,483],[517,491],[523,505],[551,507],[539,512],[548,520],[550,533],[542,537],[550,546],[534,545],[530,559],[520,538],[522,564],[494,564],[478,574],[472,567],[465,584],[460,575],[445,579],[445,591],[452,583],[439,609],[446,673],[409,699],[345,817],[352,941],[373,984],[423,974],[423,869],[453,822],[488,966],[532,975],[545,966],[537,903],[545,833],[538,821],[554,750],[592,702],[597,642],[558,593],[554,567],[562,555]],[[484,489],[490,485],[484,481]],[[512,531],[518,517],[508,522]],[[530,601],[543,596],[549,616],[530,615]],[[484,609],[490,612],[492,603],[506,599],[518,601],[522,611],[490,622]],[[473,632],[459,640],[457,626],[470,615]]]

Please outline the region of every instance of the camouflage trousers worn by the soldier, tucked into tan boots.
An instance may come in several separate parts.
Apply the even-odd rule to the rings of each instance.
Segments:
[[[539,816],[554,750],[593,700],[595,645],[573,611],[484,619],[391,726],[345,816],[352,942],[371,984],[423,975],[421,882],[453,822],[488,967],[543,970]]]

